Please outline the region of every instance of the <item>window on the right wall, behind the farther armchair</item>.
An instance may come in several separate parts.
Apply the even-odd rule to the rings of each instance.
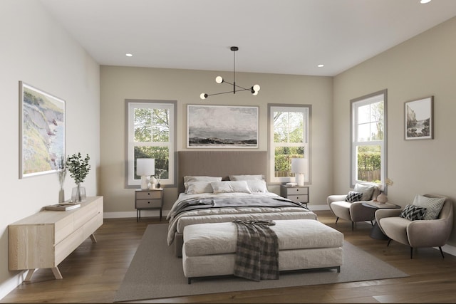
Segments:
[[[384,185],[386,179],[387,90],[351,100],[351,187]]]

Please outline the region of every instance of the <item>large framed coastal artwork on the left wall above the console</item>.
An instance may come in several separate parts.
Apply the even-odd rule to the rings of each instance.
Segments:
[[[65,166],[65,101],[19,81],[19,178]]]

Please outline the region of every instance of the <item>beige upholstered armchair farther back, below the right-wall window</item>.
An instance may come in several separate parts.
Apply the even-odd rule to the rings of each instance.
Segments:
[[[351,230],[354,229],[357,221],[371,221],[371,224],[373,224],[375,208],[364,206],[363,202],[375,199],[380,194],[380,188],[377,184],[362,183],[356,184],[353,192],[362,194],[358,201],[348,199],[348,194],[330,195],[326,199],[329,209],[336,216],[336,224],[338,219],[351,221]]]

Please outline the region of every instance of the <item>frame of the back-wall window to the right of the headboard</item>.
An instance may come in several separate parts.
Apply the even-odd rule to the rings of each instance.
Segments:
[[[294,110],[296,109],[296,110]],[[305,110],[304,110],[305,109]],[[307,151],[308,166],[307,172],[304,174],[304,184],[311,184],[311,114],[312,105],[305,104],[268,104],[268,175],[269,184],[284,184],[290,182],[294,177],[275,177],[275,148],[280,146],[300,147],[300,145],[276,145],[274,142],[274,112],[281,110],[282,112],[304,112],[304,152]],[[297,111],[299,110],[299,111]],[[303,155],[304,157],[304,155]]]

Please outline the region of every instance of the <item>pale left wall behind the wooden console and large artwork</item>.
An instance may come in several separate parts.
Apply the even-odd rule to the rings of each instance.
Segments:
[[[57,174],[19,179],[19,80],[66,101],[66,152],[90,154],[84,186],[97,194],[99,66],[40,1],[0,1],[0,298],[24,278],[8,271],[8,225],[58,203]],[[66,178],[66,199],[74,182]]]

